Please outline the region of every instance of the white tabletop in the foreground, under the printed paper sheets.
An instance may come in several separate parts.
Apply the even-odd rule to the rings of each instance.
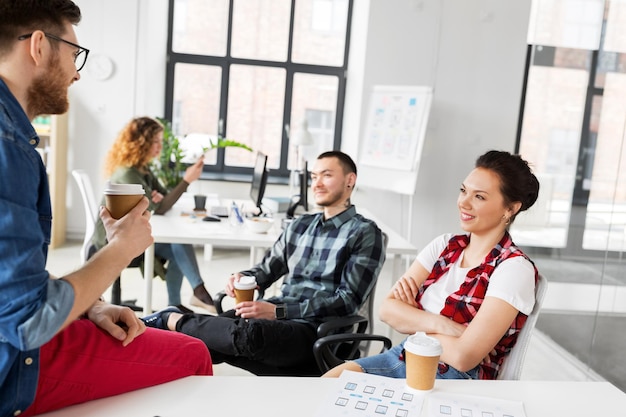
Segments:
[[[42,416],[312,417],[336,382],[325,378],[194,376]],[[623,416],[626,411],[626,394],[608,382],[439,380],[435,391],[522,401],[527,417],[609,417]],[[424,406],[423,417],[427,410]]]

